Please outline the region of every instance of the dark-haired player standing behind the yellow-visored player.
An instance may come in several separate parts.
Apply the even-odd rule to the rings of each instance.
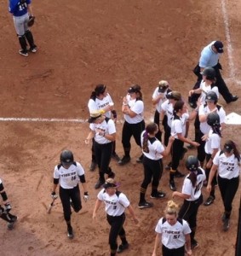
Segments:
[[[92,91],[89,102],[88,102],[89,113],[93,113],[97,110],[101,110],[103,111],[104,115],[107,118],[112,118],[116,123],[118,115],[116,110],[114,110],[113,105],[114,103],[112,101],[112,97],[107,92],[106,85],[97,84],[95,87],[95,90]],[[92,143],[91,150],[92,150],[92,161],[91,161],[91,165],[89,166],[89,170],[94,171],[96,167],[94,143]],[[118,157],[118,154],[116,153],[116,142],[113,142],[112,158],[115,160],[120,160]]]

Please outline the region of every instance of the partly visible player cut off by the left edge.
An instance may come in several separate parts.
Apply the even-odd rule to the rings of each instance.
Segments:
[[[8,222],[8,229],[13,230],[14,224],[17,221],[17,216],[10,213],[12,206],[9,202],[8,195],[4,189],[3,181],[0,178],[0,195],[3,199],[3,207],[0,205],[0,218]]]

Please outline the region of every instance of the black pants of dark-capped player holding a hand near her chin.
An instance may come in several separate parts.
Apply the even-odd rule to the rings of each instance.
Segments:
[[[141,132],[145,130],[145,122],[142,120],[137,124],[129,124],[127,121],[123,123],[122,131],[122,143],[123,150],[126,151],[128,148],[130,151],[130,138],[133,136],[135,138],[135,143],[141,147]]]

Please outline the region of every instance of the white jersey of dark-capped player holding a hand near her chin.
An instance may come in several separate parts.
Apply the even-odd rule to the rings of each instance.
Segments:
[[[129,123],[129,124],[138,124],[141,123],[141,121],[144,119],[144,103],[141,100],[136,101],[136,99],[132,100],[128,96],[127,98],[127,104],[129,106],[129,109],[136,113],[135,117],[130,117],[129,114],[123,114],[123,118]]]

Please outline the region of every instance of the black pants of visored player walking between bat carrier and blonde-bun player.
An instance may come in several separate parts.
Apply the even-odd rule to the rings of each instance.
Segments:
[[[116,252],[118,249],[118,236],[125,239],[125,230],[123,229],[123,224],[125,221],[125,214],[120,216],[110,216],[107,214],[108,224],[111,225],[111,230],[109,233],[109,244],[112,253]]]

